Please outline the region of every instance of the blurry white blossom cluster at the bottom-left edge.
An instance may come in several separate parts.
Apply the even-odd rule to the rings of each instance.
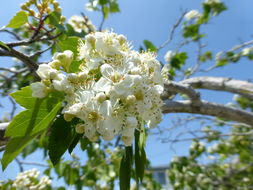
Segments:
[[[21,172],[13,182],[13,187],[17,190],[45,190],[51,185],[48,176],[42,176],[38,179],[40,172],[37,169],[31,169]]]

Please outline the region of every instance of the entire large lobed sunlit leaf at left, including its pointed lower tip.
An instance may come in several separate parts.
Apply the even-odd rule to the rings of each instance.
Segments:
[[[32,97],[30,87],[22,88],[11,95],[27,110],[15,116],[6,129],[5,135],[11,137],[11,140],[1,160],[3,169],[32,139],[48,128],[60,110],[62,102],[62,97],[55,93],[44,99],[36,99]]]

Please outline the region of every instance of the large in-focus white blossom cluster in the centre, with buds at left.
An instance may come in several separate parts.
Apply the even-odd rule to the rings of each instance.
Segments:
[[[141,123],[152,128],[161,122],[163,78],[151,52],[133,51],[123,35],[105,31],[87,35],[79,54],[83,63],[77,73],[68,73],[70,51],[40,65],[42,82],[32,85],[33,96],[45,97],[52,89],[64,92],[65,120],[81,119],[76,132],[91,141],[121,135],[130,146]]]

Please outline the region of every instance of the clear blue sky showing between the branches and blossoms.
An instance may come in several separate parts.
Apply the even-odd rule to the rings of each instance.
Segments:
[[[19,4],[22,2],[24,1],[10,0],[1,3],[1,26],[8,23],[8,20],[19,10]],[[59,2],[67,18],[84,12],[96,26],[100,24],[101,15],[96,12],[87,12],[84,9],[85,0],[59,0]],[[159,46],[168,38],[170,28],[180,16],[181,10],[201,10],[201,2],[200,0],[119,0],[121,13],[110,15],[109,20],[104,24],[104,28],[112,28],[114,32],[126,35],[132,41],[136,50],[138,50],[144,39],[148,39]],[[207,50],[217,53],[222,50],[228,50],[240,41],[246,41],[251,38],[253,31],[252,4],[252,0],[227,1],[228,11],[214,18],[203,28],[203,32],[207,34],[205,39],[205,43],[208,45]],[[7,39],[1,35],[1,40]],[[179,35],[179,33],[176,33],[176,38]],[[166,46],[166,48],[159,52],[158,58],[162,60],[166,51],[173,50],[177,43],[178,41]],[[190,56],[192,57],[189,61],[194,63],[194,53],[196,51],[190,49],[190,52]],[[1,58],[0,65],[6,64],[10,64],[9,59]],[[213,63],[208,64],[207,67]],[[245,59],[240,65],[238,67],[238,64],[231,64],[224,69],[217,69],[207,74],[204,73],[204,75],[234,77],[244,80],[251,77],[252,79],[252,62]],[[198,75],[203,75],[203,73]],[[220,103],[226,103],[232,97],[227,93],[203,92],[204,99]],[[1,103],[5,105],[5,109],[9,108],[6,101],[1,100]],[[0,114],[3,114],[5,111],[2,109]],[[181,115],[167,115],[160,125],[163,127],[170,125],[171,118],[175,116]],[[197,122],[193,123],[192,127],[197,125],[199,125]],[[152,136],[147,143],[147,154],[152,165],[163,165],[167,164],[174,155],[186,154],[188,146],[189,143],[180,143],[175,145],[174,150],[172,150],[169,144],[162,144],[157,140],[157,137]],[[33,155],[31,159],[37,159],[37,157],[39,157],[39,154]],[[14,177],[17,171],[16,165],[12,164],[4,173],[0,171],[0,179]]]

